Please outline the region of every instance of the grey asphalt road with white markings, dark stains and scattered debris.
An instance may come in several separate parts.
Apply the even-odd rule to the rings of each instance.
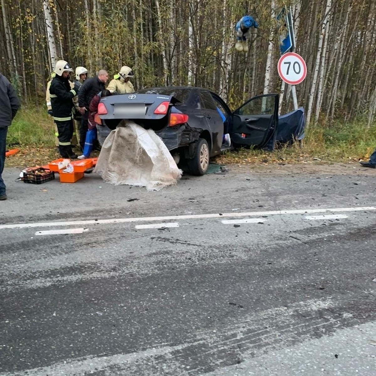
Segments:
[[[376,374],[376,173],[15,182],[0,375]]]

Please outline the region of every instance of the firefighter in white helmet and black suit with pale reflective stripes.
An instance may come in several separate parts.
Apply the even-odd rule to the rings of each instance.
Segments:
[[[75,159],[77,155],[72,151],[73,136],[73,97],[76,91],[69,83],[70,72],[73,69],[65,60],[56,62],[55,73],[50,86],[52,117],[59,132],[59,153],[63,158]]]

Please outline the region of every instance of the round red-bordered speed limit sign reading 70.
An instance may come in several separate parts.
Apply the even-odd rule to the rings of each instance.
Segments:
[[[278,61],[278,74],[286,83],[297,85],[305,79],[307,66],[302,56],[295,52],[288,52]]]

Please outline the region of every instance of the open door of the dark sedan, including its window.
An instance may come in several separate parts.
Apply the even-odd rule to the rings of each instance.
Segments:
[[[263,147],[278,126],[278,94],[253,97],[232,113],[232,144]]]

